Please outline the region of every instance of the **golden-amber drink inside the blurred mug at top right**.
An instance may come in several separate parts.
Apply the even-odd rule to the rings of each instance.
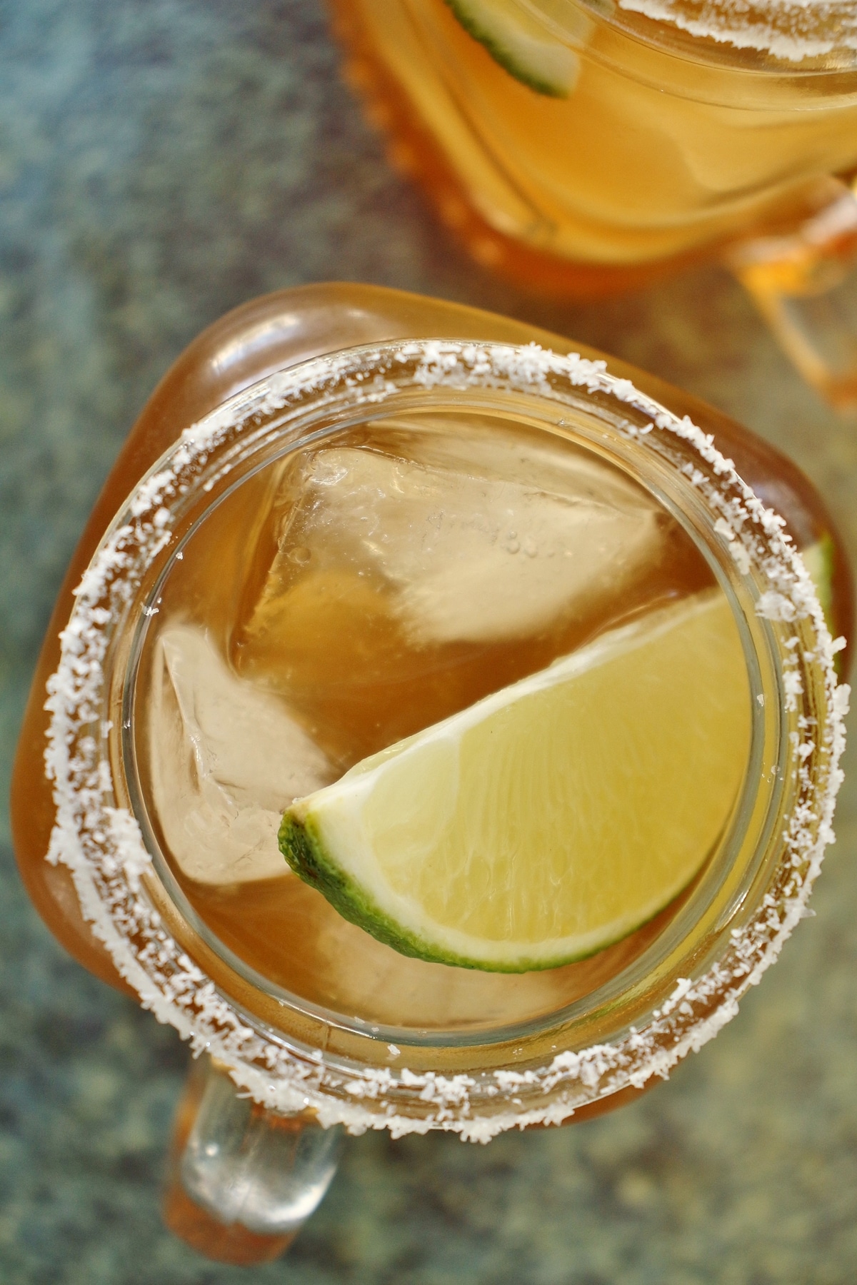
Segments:
[[[768,59],[759,75],[757,50],[725,57],[722,42],[617,10],[641,24],[628,35],[572,0],[333,8],[394,158],[488,265],[514,243],[626,271],[687,254],[788,215],[808,181],[857,161],[853,71],[824,82]]]

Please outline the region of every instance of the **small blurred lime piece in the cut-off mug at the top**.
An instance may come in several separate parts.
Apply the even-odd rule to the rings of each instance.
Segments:
[[[461,26],[496,63],[537,94],[568,98],[579,59],[518,0],[446,0]]]

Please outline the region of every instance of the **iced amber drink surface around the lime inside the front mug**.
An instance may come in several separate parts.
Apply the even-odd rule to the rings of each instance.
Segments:
[[[215,510],[161,591],[135,696],[153,830],[215,937],[298,1000],[420,1029],[549,1013],[626,966],[672,911],[546,974],[405,959],[288,870],[281,812],[605,631],[721,592],[639,483],[513,421],[414,415],[297,451]],[[747,713],[693,870],[740,790],[740,682]],[[617,799],[628,843],[640,824],[630,798]]]

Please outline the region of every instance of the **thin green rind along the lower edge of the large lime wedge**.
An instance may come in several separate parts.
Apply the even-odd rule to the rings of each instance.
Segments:
[[[365,889],[344,873],[342,866],[330,860],[311,817],[307,817],[306,824],[302,824],[290,812],[285,812],[280,822],[278,842],[280,852],[298,879],[320,892],[343,919],[356,924],[357,928],[369,933],[375,941],[383,942],[384,946],[392,946],[400,955],[410,955],[427,964],[448,964],[454,968],[475,969],[479,973],[543,973],[547,969],[563,968],[565,964],[578,964],[581,960],[606,950],[608,946],[624,941],[626,937],[637,932],[663,910],[660,907],[633,928],[600,942],[597,946],[556,959],[515,959],[504,962],[477,960],[465,955],[455,955],[451,951],[442,951],[391,919]],[[693,880],[690,882],[693,883]]]

